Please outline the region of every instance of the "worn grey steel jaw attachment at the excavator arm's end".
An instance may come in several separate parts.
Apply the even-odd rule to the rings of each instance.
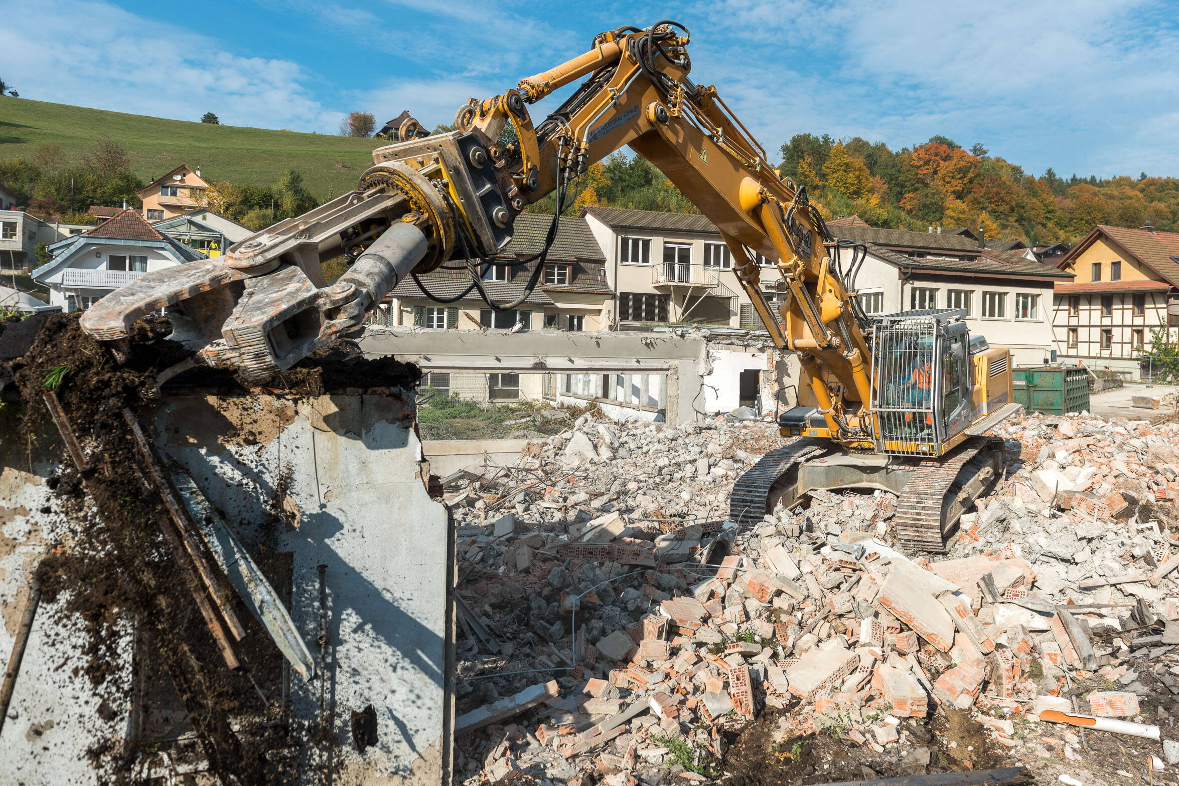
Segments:
[[[368,170],[356,191],[224,257],[145,273],[91,306],[80,324],[94,338],[120,341],[137,319],[167,308],[171,338],[209,365],[264,382],[358,329],[401,278],[433,270],[453,244],[452,211],[430,179],[390,161]],[[360,249],[325,286],[321,262]]]

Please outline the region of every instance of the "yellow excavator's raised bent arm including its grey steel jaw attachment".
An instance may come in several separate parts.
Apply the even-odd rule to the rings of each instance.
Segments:
[[[121,342],[136,319],[169,306],[174,337],[196,358],[263,381],[356,331],[402,278],[450,259],[489,264],[527,205],[554,191],[560,204],[573,178],[626,145],[720,230],[773,342],[798,354],[826,436],[870,450],[868,321],[844,285],[839,244],[716,88],[689,78],[687,45],[674,22],[618,28],[515,90],[473,99],[455,131],[417,138],[420,126],[408,118],[403,141],[374,151],[356,191],[223,257],[147,273],[92,306],[83,328]],[[529,104],[582,77],[555,112],[533,124]],[[509,124],[516,140],[501,145]],[[555,222],[549,243],[554,233]],[[320,265],[340,256],[350,269],[327,285]],[[777,308],[763,293],[765,275],[778,277]]]

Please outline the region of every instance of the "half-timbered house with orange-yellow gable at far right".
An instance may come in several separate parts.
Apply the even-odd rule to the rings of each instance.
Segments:
[[[1053,325],[1067,362],[1131,379],[1152,331],[1179,325],[1179,235],[1153,227],[1096,226],[1059,266]],[[1150,369],[1146,369],[1150,374]]]

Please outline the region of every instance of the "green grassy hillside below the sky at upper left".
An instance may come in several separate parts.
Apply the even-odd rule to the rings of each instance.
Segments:
[[[199,166],[210,181],[258,186],[272,185],[295,169],[307,187],[324,199],[356,187],[361,172],[373,164],[373,150],[389,144],[0,98],[0,158],[28,156],[46,143],[60,145],[73,158],[104,136],[127,148],[136,174],[145,183],[180,164]]]

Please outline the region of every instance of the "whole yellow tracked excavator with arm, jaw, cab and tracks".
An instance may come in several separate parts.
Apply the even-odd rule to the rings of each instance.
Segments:
[[[944,549],[1003,470],[1002,441],[984,434],[1017,409],[1008,350],[971,336],[962,310],[868,317],[855,292],[867,249],[834,238],[716,87],[689,78],[689,38],[672,21],[601,33],[585,54],[472,99],[448,133],[426,136],[403,114],[387,134],[401,141],[374,151],[355,191],[222,257],[149,272],[93,305],[81,325],[118,349],[136,319],[167,308],[173,338],[195,352],[185,366],[264,381],[355,333],[402,278],[449,260],[469,269],[468,292],[485,299],[480,272],[489,265],[533,264],[534,286],[571,180],[628,145],[717,225],[773,343],[801,361],[798,405],[778,423],[795,438],[736,482],[731,517],[753,523],[816,489],[887,489],[900,495],[901,544]],[[534,124],[528,105],[581,78]],[[545,250],[496,260],[515,217],[554,192]],[[350,266],[329,285],[321,263],[341,256]],[[776,306],[765,275],[777,277]]]

